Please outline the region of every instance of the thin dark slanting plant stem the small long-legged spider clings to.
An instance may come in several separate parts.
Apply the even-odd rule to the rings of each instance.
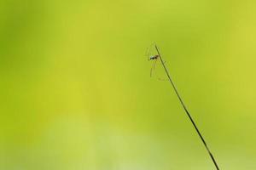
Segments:
[[[209,148],[208,148],[208,146],[207,146],[207,143],[206,143],[205,139],[202,137],[202,135],[201,135],[201,133],[200,133],[200,131],[199,131],[198,127],[196,127],[195,122],[194,122],[194,120],[193,120],[192,116],[190,116],[189,111],[187,110],[186,106],[185,106],[185,105],[184,105],[184,103],[183,103],[183,99],[182,99],[182,98],[180,97],[180,95],[178,94],[178,92],[177,92],[177,88],[175,87],[174,83],[172,82],[172,78],[171,78],[171,76],[170,76],[169,72],[168,72],[168,71],[167,71],[167,69],[166,69],[165,62],[164,62],[164,61],[163,61],[163,59],[161,58],[161,55],[160,55],[159,49],[157,48],[157,46],[156,46],[156,45],[155,45],[155,49],[156,49],[157,53],[159,54],[159,58],[160,58],[161,64],[163,65],[163,67],[164,67],[164,69],[165,69],[165,71],[166,71],[166,75],[167,75],[167,77],[168,77],[169,81],[170,81],[170,82],[171,82],[171,84],[172,84],[172,88],[174,89],[175,93],[177,94],[177,98],[179,99],[179,101],[180,101],[181,105],[183,105],[183,109],[184,109],[184,111],[186,112],[187,116],[189,116],[189,120],[190,120],[190,122],[192,122],[193,126],[195,127],[195,131],[197,132],[197,134],[199,135],[199,137],[200,137],[200,139],[201,139],[202,143],[203,143],[203,144],[204,144],[204,146],[206,147],[206,149],[207,149],[207,152],[208,152],[209,156],[211,156],[212,161],[213,161],[213,163],[214,163],[214,165],[215,165],[216,169],[217,169],[217,170],[219,170],[219,168],[218,168],[218,164],[217,164],[217,161],[215,161],[215,159],[214,159],[214,157],[213,157],[213,155],[212,155],[211,151],[209,150]]]

